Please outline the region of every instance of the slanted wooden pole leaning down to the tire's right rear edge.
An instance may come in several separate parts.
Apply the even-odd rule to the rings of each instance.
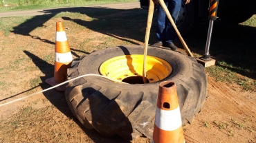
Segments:
[[[170,20],[170,22],[172,23],[172,26],[174,27],[174,30],[176,31],[177,35],[179,36],[179,39],[181,40],[181,43],[185,49],[185,51],[188,53],[189,56],[193,57],[192,52],[190,52],[190,49],[188,48],[188,45],[185,43],[185,41],[183,40],[178,28],[176,27],[174,20],[172,19],[172,16],[169,12],[169,10],[167,9],[165,2],[163,0],[158,0],[159,4],[162,6],[163,10],[165,11],[165,14],[167,15],[168,19]]]

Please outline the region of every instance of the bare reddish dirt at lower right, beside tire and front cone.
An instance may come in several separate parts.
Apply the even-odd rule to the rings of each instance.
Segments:
[[[208,98],[193,124],[184,126],[192,142],[255,142],[255,93],[208,77]],[[249,106],[248,106],[249,105]],[[187,140],[187,142],[188,142]]]

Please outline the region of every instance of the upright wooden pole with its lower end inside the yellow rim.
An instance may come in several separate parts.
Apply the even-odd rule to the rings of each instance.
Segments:
[[[146,80],[146,63],[147,63],[147,46],[149,43],[149,34],[152,25],[152,19],[154,14],[154,2],[149,0],[149,13],[147,14],[147,28],[145,34],[145,43],[144,43],[144,59],[143,59],[143,82],[147,83]]]

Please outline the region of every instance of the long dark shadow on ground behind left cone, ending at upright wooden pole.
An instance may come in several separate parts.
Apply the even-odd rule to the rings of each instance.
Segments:
[[[15,34],[21,34],[24,36],[31,36],[33,39],[39,39],[46,43],[55,44],[48,39],[41,39],[38,36],[30,34],[35,28],[44,28],[46,21],[52,19],[61,12],[79,12],[84,16],[91,17],[91,21],[84,21],[73,17],[62,17],[65,21],[73,21],[79,25],[82,25],[95,32],[107,34],[113,36],[116,39],[127,41],[131,44],[136,44],[129,39],[135,39],[137,41],[144,41],[145,25],[147,21],[147,10],[141,10],[139,8],[130,10],[119,10],[111,8],[60,8],[53,10],[42,11],[46,15],[38,15],[32,19],[28,19],[26,22],[13,28],[12,32]]]

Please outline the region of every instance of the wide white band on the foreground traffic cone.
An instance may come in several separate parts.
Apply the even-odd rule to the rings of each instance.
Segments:
[[[178,129],[182,125],[180,108],[177,107],[174,110],[167,111],[156,107],[155,124],[165,131]]]

